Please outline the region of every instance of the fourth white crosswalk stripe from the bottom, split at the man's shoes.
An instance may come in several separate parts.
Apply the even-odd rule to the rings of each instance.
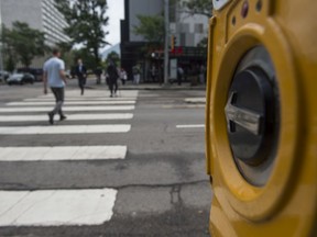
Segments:
[[[131,120],[132,113],[109,114],[67,114],[67,121],[92,121],[92,120]],[[39,122],[47,121],[47,115],[0,115],[0,122]]]

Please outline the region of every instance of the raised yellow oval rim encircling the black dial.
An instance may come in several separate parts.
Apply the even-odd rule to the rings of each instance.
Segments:
[[[263,26],[261,26],[263,25]],[[297,159],[297,134],[299,129],[299,104],[296,70],[293,54],[278,25],[269,19],[261,25],[250,23],[239,29],[226,46],[220,59],[219,72],[212,90],[211,114],[212,156],[218,156],[219,172],[228,191],[225,195],[236,212],[245,218],[261,221],[278,211],[289,188],[291,173]],[[281,131],[277,158],[269,182],[263,188],[249,184],[240,174],[230,150],[225,105],[231,78],[240,58],[251,48],[263,45],[273,60],[280,88]],[[219,113],[221,111],[222,113]],[[217,166],[217,165],[216,165]],[[217,191],[216,191],[217,194]]]

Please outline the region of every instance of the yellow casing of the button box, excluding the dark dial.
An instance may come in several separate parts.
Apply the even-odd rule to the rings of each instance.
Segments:
[[[214,11],[206,106],[212,237],[317,236],[316,16],[316,0],[232,0]],[[281,105],[274,168],[260,188],[248,183],[234,163],[225,115],[234,70],[258,45],[273,60]]]

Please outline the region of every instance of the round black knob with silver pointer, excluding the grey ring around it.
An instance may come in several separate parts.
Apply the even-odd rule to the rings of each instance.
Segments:
[[[228,135],[234,157],[248,165],[265,159],[273,97],[270,80],[259,67],[242,70],[232,80],[226,106]]]

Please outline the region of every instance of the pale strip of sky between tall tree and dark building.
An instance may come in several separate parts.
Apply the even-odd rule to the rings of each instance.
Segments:
[[[111,45],[120,43],[120,20],[124,19],[124,0],[108,0],[108,11],[107,15],[109,16],[109,25],[106,30],[109,34],[106,37],[106,41]],[[108,49],[110,46],[106,46],[103,49]]]

